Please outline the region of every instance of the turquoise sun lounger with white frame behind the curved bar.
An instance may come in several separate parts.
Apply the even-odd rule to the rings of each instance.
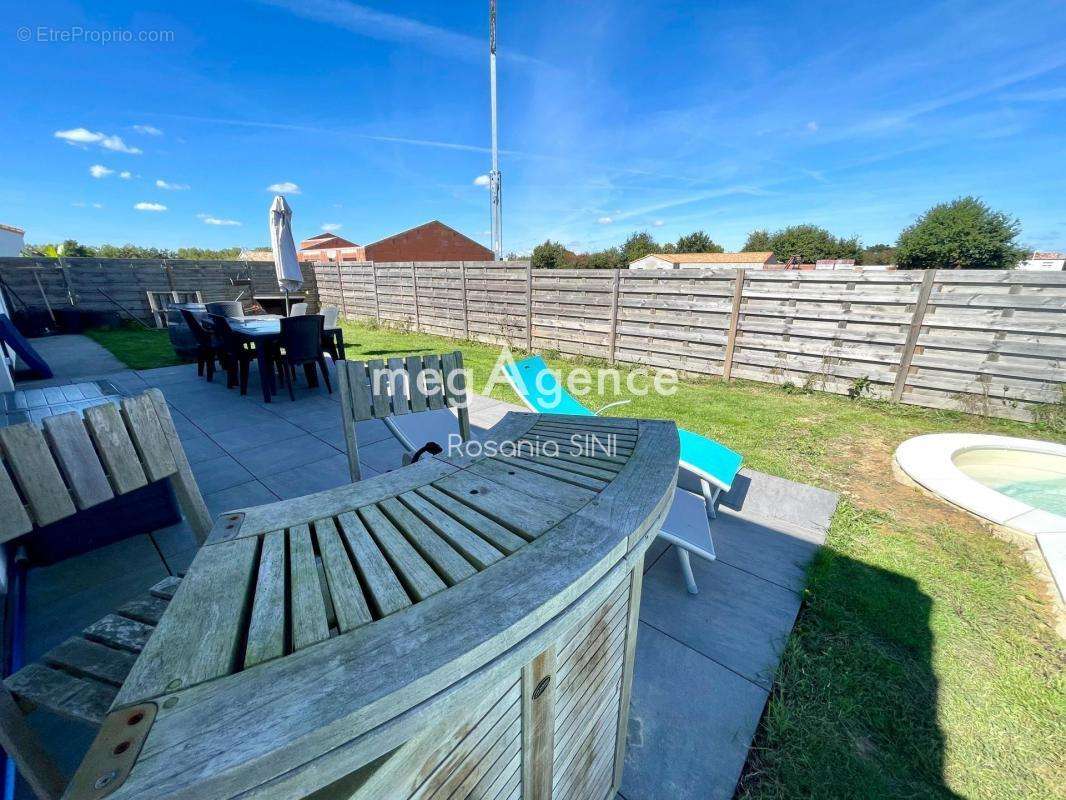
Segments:
[[[522,402],[530,411],[538,414],[572,414],[591,417],[612,406],[629,402],[620,400],[595,412],[589,411],[560,385],[555,375],[548,369],[548,365],[538,355],[522,358],[513,367],[507,365],[505,372]],[[681,428],[677,433],[681,442],[678,491],[660,535],[677,545],[685,585],[689,591],[695,594],[696,581],[689,562],[689,553],[709,561],[714,560],[714,542],[711,539],[708,519],[714,518],[715,505],[722,493],[728,492],[732,486],[743,459],[740,453],[698,433]],[[700,508],[698,513],[697,507]]]

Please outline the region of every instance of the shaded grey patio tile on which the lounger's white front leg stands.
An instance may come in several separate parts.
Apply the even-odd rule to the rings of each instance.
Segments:
[[[692,559],[684,589],[674,548],[644,576],[641,621],[765,689],[800,610],[800,595],[721,561]]]

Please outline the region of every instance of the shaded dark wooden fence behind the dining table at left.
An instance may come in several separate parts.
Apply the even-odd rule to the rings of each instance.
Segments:
[[[313,302],[314,271],[304,268],[305,294]],[[148,292],[199,291],[205,302],[251,300],[279,291],[273,261],[199,261],[126,258],[0,258],[0,279],[13,310],[77,306],[117,310],[116,303],[151,320]],[[110,298],[110,299],[109,299]]]

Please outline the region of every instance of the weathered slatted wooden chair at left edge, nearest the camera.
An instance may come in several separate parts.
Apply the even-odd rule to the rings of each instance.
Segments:
[[[197,543],[207,539],[211,514],[159,389],[125,398],[120,406],[88,407],[84,417],[78,412],[45,417],[43,426],[0,428],[0,542],[32,535],[39,527],[163,479],[174,489]],[[4,679],[0,746],[38,797],[59,798],[65,781],[23,715],[41,706],[98,724],[162,613],[166,591],[155,587],[46,654],[43,662]]]

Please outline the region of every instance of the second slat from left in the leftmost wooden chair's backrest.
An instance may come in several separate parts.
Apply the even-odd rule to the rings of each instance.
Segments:
[[[36,426],[21,422],[0,428],[0,446],[37,525],[54,523],[77,511],[48,443]]]

